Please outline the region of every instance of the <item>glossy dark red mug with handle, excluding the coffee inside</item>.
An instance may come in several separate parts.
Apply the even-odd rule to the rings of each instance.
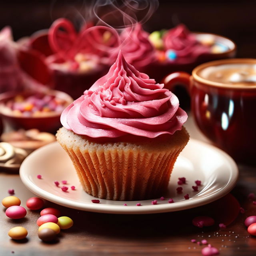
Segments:
[[[204,68],[221,64],[255,64],[256,59],[228,59],[197,66],[192,75],[174,72],[163,80],[173,90],[186,87],[191,111],[203,134],[238,162],[256,164],[256,85],[222,84],[202,78]]]

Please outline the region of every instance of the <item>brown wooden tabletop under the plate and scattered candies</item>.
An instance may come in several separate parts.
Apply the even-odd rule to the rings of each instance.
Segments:
[[[192,138],[206,140],[195,128],[191,117],[186,127]],[[28,210],[25,218],[11,220],[5,216],[1,206],[0,256],[201,255],[204,246],[190,242],[193,238],[198,241],[207,239],[222,256],[256,255],[256,237],[248,234],[243,223],[247,216],[256,215],[256,205],[247,198],[250,192],[256,192],[256,166],[240,165],[239,170],[240,177],[232,194],[246,212],[239,214],[226,229],[194,227],[191,216],[197,209],[164,214],[116,215],[83,212],[47,202],[46,206],[56,207],[70,216],[74,226],[61,232],[57,242],[46,244],[37,236],[39,211]],[[1,198],[8,196],[10,188],[14,188],[23,206],[28,198],[34,196],[22,184],[18,174],[0,172]],[[24,226],[28,230],[28,239],[22,242],[10,239],[7,233],[14,226]]]

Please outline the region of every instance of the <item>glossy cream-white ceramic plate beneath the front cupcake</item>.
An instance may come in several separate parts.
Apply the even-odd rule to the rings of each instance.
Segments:
[[[41,174],[42,179],[37,175]],[[22,182],[32,192],[62,206],[86,210],[91,212],[104,212],[116,214],[149,214],[157,212],[172,212],[208,204],[226,195],[235,186],[238,178],[238,168],[222,150],[190,139],[188,145],[181,152],[174,165],[168,192],[164,194],[165,200],[158,200],[152,205],[152,200],[141,201],[113,201],[100,199],[100,204],[92,203],[90,196],[82,189],[76,171],[68,154],[58,142],[48,144],[30,154],[20,167]],[[178,194],[176,188],[179,177],[186,177],[187,184],[183,185],[183,193]],[[67,180],[68,192],[63,192],[54,181]],[[201,180],[198,192],[193,192],[194,181]],[[70,186],[76,186],[71,190]],[[184,194],[190,199],[185,200]],[[173,198],[174,203],[169,204],[168,199]],[[141,206],[136,206],[140,202]],[[126,203],[128,206],[124,206]]]

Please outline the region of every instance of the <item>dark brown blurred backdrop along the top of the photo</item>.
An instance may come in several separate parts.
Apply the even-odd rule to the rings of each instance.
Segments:
[[[88,0],[1,1],[0,28],[10,25],[14,38],[48,28],[60,17],[78,20]],[[256,1],[160,0],[158,10],[144,25],[149,32],[183,22],[192,31],[227,36],[238,44],[238,57],[256,58]]]

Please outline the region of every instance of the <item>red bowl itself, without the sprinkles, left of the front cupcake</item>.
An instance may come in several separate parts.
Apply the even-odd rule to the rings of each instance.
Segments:
[[[60,92],[57,90],[47,90],[44,92],[46,95],[55,96],[56,98],[66,101],[66,106],[73,102],[73,99],[65,92]],[[12,113],[6,113],[3,111],[3,106],[8,100],[15,98],[17,95],[22,95],[24,97],[32,96],[32,92],[5,92],[0,94],[0,116],[4,123],[5,128],[16,129],[33,129],[36,128],[41,132],[52,132],[55,133],[58,128],[61,127],[60,123],[60,112],[49,114],[49,116],[36,116],[36,117],[26,117],[26,116],[14,116]]]

